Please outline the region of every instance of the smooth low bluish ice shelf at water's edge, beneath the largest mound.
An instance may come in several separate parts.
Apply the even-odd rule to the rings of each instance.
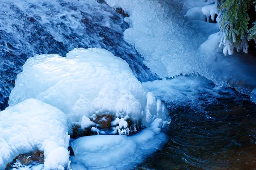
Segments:
[[[133,169],[151,153],[160,149],[167,140],[161,132],[166,122],[155,119],[140,133],[133,136],[85,136],[72,142],[75,156],[71,167],[76,170]]]

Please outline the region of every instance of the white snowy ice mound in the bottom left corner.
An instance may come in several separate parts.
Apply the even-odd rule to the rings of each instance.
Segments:
[[[67,118],[57,108],[37,99],[9,106],[0,112],[0,169],[19,154],[41,150],[45,170],[68,170],[69,139]],[[56,154],[56,150],[60,152]]]

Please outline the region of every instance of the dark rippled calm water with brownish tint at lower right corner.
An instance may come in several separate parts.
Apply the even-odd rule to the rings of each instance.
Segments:
[[[236,92],[235,92],[236,93]],[[246,96],[218,98],[197,112],[169,111],[169,141],[140,167],[156,170],[256,169],[256,105]]]

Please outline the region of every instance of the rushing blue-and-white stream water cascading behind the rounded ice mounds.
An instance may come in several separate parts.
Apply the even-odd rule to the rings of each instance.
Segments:
[[[130,65],[141,81],[157,79],[123,40],[128,24],[99,0],[0,1],[0,109],[22,65],[35,54],[65,57],[73,48],[105,48]]]

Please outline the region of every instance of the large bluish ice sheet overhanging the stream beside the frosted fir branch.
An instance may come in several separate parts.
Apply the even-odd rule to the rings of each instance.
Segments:
[[[252,56],[224,56],[215,19],[216,0],[106,0],[128,14],[124,39],[145,58],[161,78],[200,74],[215,85],[250,95],[256,88],[256,61]],[[185,19],[184,19],[185,16]],[[218,20],[218,18],[217,18]],[[225,51],[226,50],[226,51]],[[227,53],[225,48],[224,53]]]

